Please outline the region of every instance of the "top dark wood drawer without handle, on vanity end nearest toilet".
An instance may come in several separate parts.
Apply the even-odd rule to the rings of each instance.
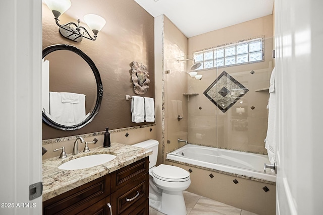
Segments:
[[[149,157],[146,157],[113,172],[111,174],[112,192],[115,192],[132,181],[137,180],[138,177],[146,174],[148,169]]]

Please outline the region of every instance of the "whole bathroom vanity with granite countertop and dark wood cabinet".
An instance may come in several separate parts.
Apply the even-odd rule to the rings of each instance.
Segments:
[[[113,143],[91,154],[113,154],[105,164],[80,170],[61,170],[62,163],[84,156],[43,161],[43,214],[148,214],[151,151]]]

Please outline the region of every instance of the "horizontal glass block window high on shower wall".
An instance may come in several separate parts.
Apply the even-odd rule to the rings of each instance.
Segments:
[[[263,61],[264,37],[198,51],[194,59],[201,63],[196,70]]]

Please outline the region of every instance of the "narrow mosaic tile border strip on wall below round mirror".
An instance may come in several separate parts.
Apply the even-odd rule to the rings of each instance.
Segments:
[[[127,128],[119,128],[119,129],[114,129],[114,130],[110,130],[110,133],[118,133],[118,132],[122,132],[122,131],[128,131],[128,130],[133,130],[133,129],[139,129],[139,128],[145,128],[145,127],[152,127],[155,126],[156,123],[153,124],[148,124],[148,125],[140,125],[140,126],[134,126],[134,127],[127,127]],[[42,145],[47,145],[47,144],[54,144],[56,142],[64,142],[64,141],[68,141],[68,140],[74,140],[77,137],[90,137],[90,136],[99,136],[99,135],[104,135],[105,131],[98,131],[98,132],[94,132],[94,133],[87,133],[87,134],[80,134],[80,135],[75,135],[75,136],[66,136],[66,137],[60,137],[60,138],[53,138],[53,139],[44,139],[42,140]]]

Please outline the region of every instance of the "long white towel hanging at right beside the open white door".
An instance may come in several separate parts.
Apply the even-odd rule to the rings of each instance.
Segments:
[[[272,71],[268,101],[268,128],[265,139],[265,149],[268,152],[268,158],[271,164],[276,161],[276,95],[275,95],[275,68]]]

